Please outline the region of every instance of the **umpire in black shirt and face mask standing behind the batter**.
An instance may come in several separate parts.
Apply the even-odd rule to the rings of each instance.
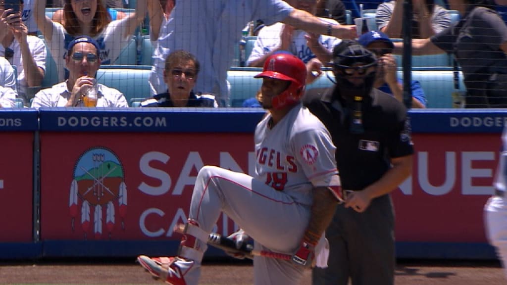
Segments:
[[[413,144],[405,106],[373,88],[377,59],[355,41],[333,51],[336,86],[312,89],[305,104],[328,128],[344,194],[326,237],[328,268],[313,285],[394,284],[394,211],[389,193],[412,173]]]

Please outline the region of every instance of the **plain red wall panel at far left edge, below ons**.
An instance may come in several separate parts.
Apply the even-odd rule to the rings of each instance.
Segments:
[[[29,242],[33,228],[33,133],[2,132],[0,242]]]

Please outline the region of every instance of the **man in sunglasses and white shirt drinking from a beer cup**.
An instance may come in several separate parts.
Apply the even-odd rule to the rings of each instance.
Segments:
[[[35,94],[32,108],[82,106],[88,89],[97,84],[97,107],[128,107],[127,99],[118,90],[96,83],[95,74],[100,66],[99,44],[87,35],[76,37],[68,45],[65,58],[68,80],[43,89]]]

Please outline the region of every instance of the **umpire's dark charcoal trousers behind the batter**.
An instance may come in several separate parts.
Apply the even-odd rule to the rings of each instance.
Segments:
[[[338,205],[325,232],[329,240],[328,268],[314,268],[313,285],[394,284],[394,209],[391,197],[372,200],[359,213]]]

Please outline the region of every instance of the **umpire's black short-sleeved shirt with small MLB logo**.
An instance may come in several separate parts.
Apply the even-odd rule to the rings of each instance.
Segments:
[[[351,112],[334,87],[308,90],[303,103],[331,133],[343,189],[363,190],[390,168],[390,158],[414,153],[407,110],[387,93],[374,88],[364,98],[361,134],[349,131]]]

